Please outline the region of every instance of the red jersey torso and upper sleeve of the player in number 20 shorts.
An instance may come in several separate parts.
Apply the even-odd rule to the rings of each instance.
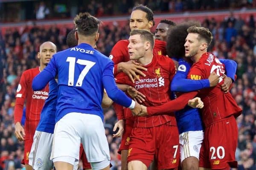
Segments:
[[[222,76],[225,73],[224,65],[214,54],[205,53],[198,62],[192,65],[187,78],[207,79],[213,71]],[[231,94],[221,91],[223,82],[224,80],[220,77],[218,85],[213,88],[202,89],[198,93],[198,96],[204,102],[202,119],[206,126],[232,114],[235,117],[241,114],[242,109],[236,104]]]

